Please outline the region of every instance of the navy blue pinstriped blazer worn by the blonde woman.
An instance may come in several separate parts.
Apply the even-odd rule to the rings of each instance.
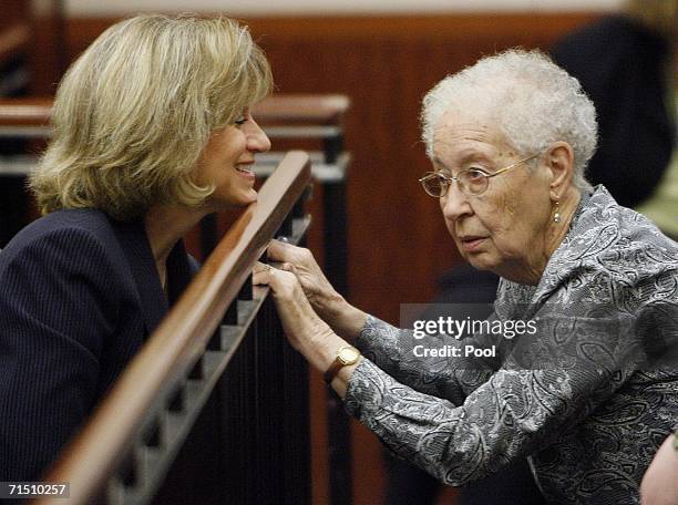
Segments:
[[[0,252],[0,481],[38,480],[178,298],[197,264],[179,241],[162,289],[141,220],[49,214]]]

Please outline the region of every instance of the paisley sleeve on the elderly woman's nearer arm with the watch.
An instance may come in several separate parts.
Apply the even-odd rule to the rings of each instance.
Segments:
[[[445,484],[464,485],[551,444],[624,384],[637,369],[638,348],[633,322],[612,319],[543,313],[538,334],[520,341],[463,403],[387,373],[402,375],[402,367],[364,360],[346,408],[399,456]]]

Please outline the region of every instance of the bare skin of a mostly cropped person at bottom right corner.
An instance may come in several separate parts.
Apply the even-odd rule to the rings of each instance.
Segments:
[[[640,484],[643,505],[678,505],[678,450],[674,447],[677,435],[669,435],[653,463],[647,468]]]

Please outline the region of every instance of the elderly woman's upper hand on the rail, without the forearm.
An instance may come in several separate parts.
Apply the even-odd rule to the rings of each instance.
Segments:
[[[280,261],[280,269],[292,272],[299,280],[306,298],[322,319],[343,302],[318,266],[310,250],[280,240],[271,240],[268,257]]]

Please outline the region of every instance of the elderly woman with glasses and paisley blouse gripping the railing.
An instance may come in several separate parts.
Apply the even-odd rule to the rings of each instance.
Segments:
[[[269,248],[281,268],[257,268],[255,282],[273,288],[290,342],[347,410],[444,483],[528,456],[548,503],[638,503],[678,415],[678,370],[665,357],[678,245],[587,184],[593,105],[538,52],[444,79],[422,117],[433,163],[423,188],[462,256],[502,277],[486,326],[462,340],[393,328],[285,243]],[[523,334],[487,331],[496,323]]]

